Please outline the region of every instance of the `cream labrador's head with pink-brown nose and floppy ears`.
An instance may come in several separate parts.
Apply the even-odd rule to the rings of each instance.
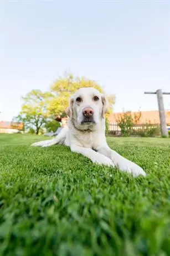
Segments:
[[[99,124],[107,111],[106,97],[95,88],[80,88],[71,97],[66,114],[79,129]]]

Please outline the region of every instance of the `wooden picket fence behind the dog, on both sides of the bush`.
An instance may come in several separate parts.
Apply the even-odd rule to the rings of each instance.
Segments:
[[[135,131],[146,131],[148,129],[159,127],[159,124],[137,124],[134,125],[131,130],[132,134],[135,134]],[[109,134],[110,135],[122,135],[121,129],[116,122],[112,122],[109,124]]]

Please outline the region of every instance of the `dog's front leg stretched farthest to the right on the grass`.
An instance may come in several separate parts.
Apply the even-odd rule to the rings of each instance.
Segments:
[[[99,146],[97,151],[100,152],[100,154],[109,157],[112,162],[120,168],[121,171],[126,171],[133,176],[146,176],[145,171],[140,166],[119,155],[116,151],[110,149],[109,146]]]

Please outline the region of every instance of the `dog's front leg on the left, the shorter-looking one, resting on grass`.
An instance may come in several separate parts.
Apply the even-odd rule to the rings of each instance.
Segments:
[[[106,156],[86,147],[71,145],[71,151],[88,157],[93,163],[114,166],[114,163]]]

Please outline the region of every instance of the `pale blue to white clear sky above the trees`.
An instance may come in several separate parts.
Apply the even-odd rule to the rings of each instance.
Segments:
[[[0,121],[64,72],[115,94],[115,112],[157,110],[144,92],[170,92],[170,1],[1,0]]]

